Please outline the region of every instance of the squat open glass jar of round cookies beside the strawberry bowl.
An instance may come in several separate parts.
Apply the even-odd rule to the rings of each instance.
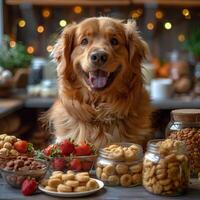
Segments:
[[[96,176],[108,186],[131,187],[142,183],[143,149],[132,143],[113,144],[100,149]]]

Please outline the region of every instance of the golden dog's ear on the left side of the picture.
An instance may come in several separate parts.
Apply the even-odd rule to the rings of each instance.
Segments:
[[[54,46],[52,56],[58,63],[57,70],[63,71],[70,64],[75,29],[76,24],[70,24],[65,27]]]

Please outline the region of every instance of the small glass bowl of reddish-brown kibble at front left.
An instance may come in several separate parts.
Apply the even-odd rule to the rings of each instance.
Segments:
[[[7,162],[1,169],[3,180],[12,187],[21,188],[23,181],[27,178],[34,178],[40,181],[48,170],[48,162],[34,159],[28,156],[18,156],[15,160]]]

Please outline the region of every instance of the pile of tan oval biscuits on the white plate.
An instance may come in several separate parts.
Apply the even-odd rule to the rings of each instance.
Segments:
[[[53,192],[85,192],[99,188],[96,180],[91,179],[88,172],[75,174],[68,170],[67,173],[54,171],[41,185],[45,190]]]

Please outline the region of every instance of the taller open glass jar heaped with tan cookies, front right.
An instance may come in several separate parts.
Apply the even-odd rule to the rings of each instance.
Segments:
[[[185,144],[177,140],[150,140],[143,161],[143,186],[154,194],[175,196],[189,183]]]

